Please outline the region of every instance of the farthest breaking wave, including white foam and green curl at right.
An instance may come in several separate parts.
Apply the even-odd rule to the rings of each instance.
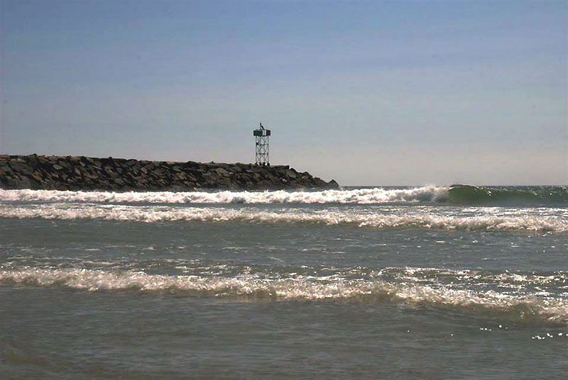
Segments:
[[[57,191],[4,190],[0,201],[89,203],[456,203],[568,204],[566,186],[422,186],[325,191]]]

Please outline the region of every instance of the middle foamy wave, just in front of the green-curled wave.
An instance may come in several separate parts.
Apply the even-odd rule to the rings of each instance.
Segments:
[[[350,210],[299,210],[288,208],[263,211],[251,208],[202,208],[126,205],[43,205],[0,207],[0,218],[44,218],[60,220],[117,220],[145,223],[173,221],[249,223],[322,223],[325,225],[357,225],[370,228],[434,228],[441,230],[529,230],[541,232],[568,231],[565,218],[559,216],[448,216],[427,212],[377,213]]]

